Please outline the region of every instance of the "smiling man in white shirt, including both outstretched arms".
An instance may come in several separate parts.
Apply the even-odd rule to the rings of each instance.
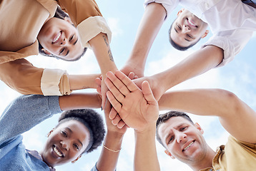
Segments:
[[[197,43],[207,35],[207,24],[213,36],[202,48],[175,66],[143,77],[154,38],[178,4],[187,10],[179,11],[169,30],[169,38],[175,48],[184,51]],[[142,77],[135,81],[137,86],[145,80],[149,81],[157,100],[169,88],[230,63],[245,47],[256,28],[256,9],[240,0],[146,0],[145,5],[132,52],[121,71],[127,75],[133,71]]]

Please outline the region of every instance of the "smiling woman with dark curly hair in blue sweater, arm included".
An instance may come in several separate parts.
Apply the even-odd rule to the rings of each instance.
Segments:
[[[97,94],[67,96],[23,95],[6,108],[0,118],[4,131],[0,135],[0,170],[54,170],[56,165],[75,162],[102,144],[102,117],[92,109],[77,109],[61,114],[41,152],[25,149],[21,133],[64,109],[100,104]]]

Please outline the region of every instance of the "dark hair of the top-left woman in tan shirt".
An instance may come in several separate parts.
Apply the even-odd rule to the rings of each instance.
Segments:
[[[57,7],[56,12],[54,14],[54,17],[58,18],[58,19],[65,19],[65,17],[69,17],[69,15],[67,13],[65,13],[64,11],[61,10],[61,7]],[[63,61],[78,61],[80,58],[82,58],[82,56],[84,56],[84,53],[87,51],[87,48],[84,48],[84,51],[82,52],[82,54],[80,56],[78,56],[77,58],[74,58],[72,60],[67,60],[64,58],[59,58],[58,56],[54,56],[53,54],[49,55],[47,53],[45,53],[44,51],[42,51],[42,49],[44,48],[43,46],[41,46],[41,43],[38,41],[39,43],[39,53],[43,56],[49,56],[52,58],[57,58],[57,59],[61,59]]]

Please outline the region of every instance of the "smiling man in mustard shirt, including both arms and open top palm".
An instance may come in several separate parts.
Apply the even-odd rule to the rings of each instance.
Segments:
[[[106,83],[111,91],[107,95],[119,114],[112,113],[109,118],[116,125],[124,121],[135,129],[135,170],[159,170],[154,145],[156,132],[167,155],[184,162],[192,170],[255,170],[256,113],[235,94],[221,89],[177,90],[164,93],[158,101],[160,110],[217,116],[230,136],[227,144],[215,152],[207,145],[200,125],[193,123],[187,114],[172,111],[159,115],[158,120],[155,118],[158,105],[147,81],[142,83],[140,90],[121,72],[107,73],[107,76]]]

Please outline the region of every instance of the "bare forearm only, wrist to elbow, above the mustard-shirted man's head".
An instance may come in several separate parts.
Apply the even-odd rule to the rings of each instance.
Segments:
[[[160,110],[179,110],[195,115],[229,115],[235,109],[232,93],[221,89],[191,89],[164,93]]]

